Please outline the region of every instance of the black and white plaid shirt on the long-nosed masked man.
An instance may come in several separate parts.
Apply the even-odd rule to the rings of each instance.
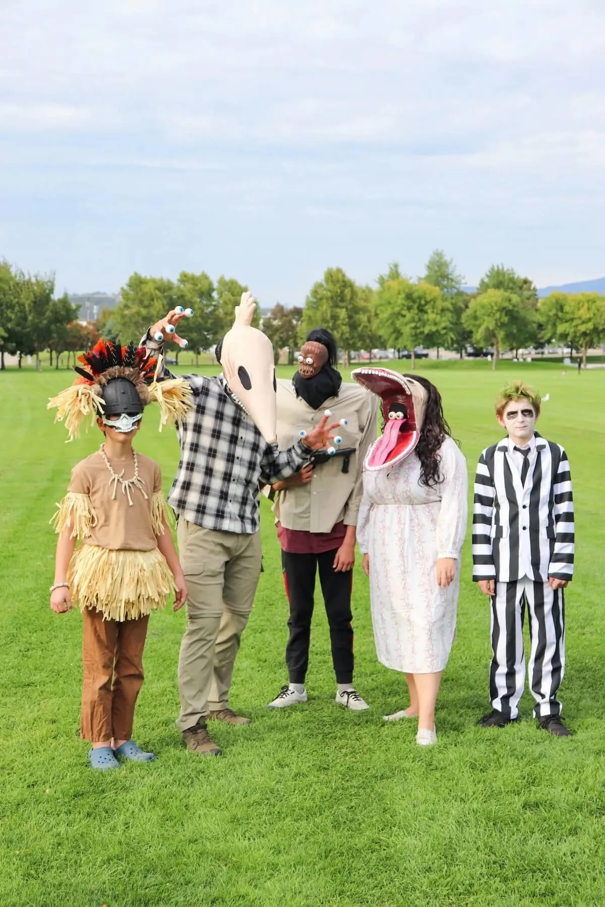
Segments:
[[[155,354],[158,345],[144,339]],[[163,373],[171,375],[168,369]],[[233,402],[223,375],[183,375],[195,408],[177,426],[179,470],[168,502],[185,520],[219,532],[259,531],[259,482],[286,479],[312,454],[298,441],[286,451],[266,444],[257,426]]]

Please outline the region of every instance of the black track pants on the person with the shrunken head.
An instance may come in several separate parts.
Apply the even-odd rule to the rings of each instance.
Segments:
[[[326,605],[327,622],[332,644],[332,663],[337,683],[353,681],[353,628],[351,620],[351,589],[353,571],[334,570],[337,549],[322,554],[290,554],[281,552],[284,584],[290,606],[286,647],[286,664],[290,683],[304,683],[308,667],[308,647],[311,639],[315,577],[319,582]]]

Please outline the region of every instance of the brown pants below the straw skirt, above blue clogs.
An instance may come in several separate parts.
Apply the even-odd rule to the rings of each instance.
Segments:
[[[103,620],[83,612],[83,740],[130,740],[134,706],[143,682],[142,650],[149,614],[134,620]]]

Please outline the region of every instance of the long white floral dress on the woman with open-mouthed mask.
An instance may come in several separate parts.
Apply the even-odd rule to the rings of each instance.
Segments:
[[[357,540],[370,559],[376,655],[409,674],[443,670],[455,637],[468,476],[451,438],[441,447],[440,470],[436,488],[420,484],[415,453],[393,469],[364,471]],[[437,586],[437,558],[456,559],[447,589]]]

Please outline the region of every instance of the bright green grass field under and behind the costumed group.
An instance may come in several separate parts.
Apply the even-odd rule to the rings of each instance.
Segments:
[[[405,365],[401,364],[403,367]],[[409,365],[407,366],[409,367]],[[49,610],[49,520],[70,468],[100,444],[64,444],[47,397],[64,370],[0,375],[0,905],[2,907],[600,907],[605,903],[603,580],[605,374],[562,366],[422,363],[444,396],[469,470],[499,437],[493,395],[522,375],[551,398],[539,429],[564,444],[577,512],[577,573],[567,598],[564,716],[577,733],[503,731],[488,708],[488,601],[464,548],[458,635],[438,704],[438,746],[415,723],[385,725],[404,681],[376,661],[368,587],[356,565],[356,686],[369,712],[334,704],[327,622],[318,600],[309,702],[267,708],[285,682],[287,605],[263,502],[266,572],[232,705],[249,727],[217,727],[219,759],[181,746],[176,667],[184,614],[151,618],[135,736],[157,762],[103,775],[79,739],[81,619]],[[289,370],[291,374],[291,369]],[[288,375],[288,369],[282,369]],[[170,487],[178,444],[147,411],[137,439]]]

